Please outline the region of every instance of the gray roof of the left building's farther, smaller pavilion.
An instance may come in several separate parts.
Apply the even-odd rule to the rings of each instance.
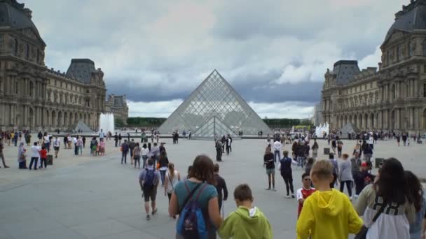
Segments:
[[[78,81],[88,84],[90,78],[92,78],[92,73],[95,71],[95,62],[91,59],[71,59],[67,77],[76,78]]]

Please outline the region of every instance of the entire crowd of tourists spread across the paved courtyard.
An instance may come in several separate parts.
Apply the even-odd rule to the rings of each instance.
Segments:
[[[153,134],[155,137],[156,132]],[[18,135],[19,168],[46,168],[50,147],[55,157],[58,156],[62,145],[60,138],[41,132],[37,137],[39,140],[33,142],[27,153],[25,144],[28,143],[22,137],[20,141]],[[11,137],[14,145],[12,138],[15,135]],[[108,138],[113,138],[111,132],[104,135],[101,131],[98,137],[93,137],[90,154],[104,155]],[[227,217],[223,211],[221,213],[223,201],[228,199],[228,187],[219,175],[219,164],[214,164],[209,157],[195,157],[187,173],[181,175],[167,156],[165,143],[154,140],[147,143],[144,138],[139,143],[130,136],[122,139],[123,143],[118,145],[121,164],[127,164],[128,157],[135,168],[141,168],[142,164],[139,187],[147,220],[158,212],[156,198],[161,188],[169,201],[169,215],[176,219],[177,238],[216,238],[217,235],[221,238],[273,238],[267,215],[254,205],[248,184],[239,184],[233,190],[236,210]],[[320,159],[319,144],[311,133],[297,133],[289,138],[275,134],[267,138],[263,154],[268,178],[266,190],[276,191],[280,182],[275,181],[275,169],[279,170],[287,192],[285,197],[298,201],[298,238],[348,238],[349,234],[356,234],[357,238],[425,238],[426,196],[420,180],[411,171],[405,171],[401,162],[394,158],[384,160],[376,175],[372,171],[371,159],[374,150],[380,147],[377,145],[380,139],[373,133],[366,133],[352,147],[344,145],[340,136],[333,133],[324,141],[331,147],[328,159]],[[395,139],[398,140],[397,136]],[[408,146],[408,140],[401,139]],[[118,140],[117,136],[116,142]],[[217,161],[222,160],[224,152],[232,152],[231,143],[229,135],[216,138]],[[0,157],[5,168],[8,167],[3,154],[6,144],[8,136],[3,134]],[[64,136],[63,144],[64,149],[74,148],[74,154],[81,155],[85,138]],[[303,172],[298,179],[302,184],[299,189],[294,189],[294,169]]]

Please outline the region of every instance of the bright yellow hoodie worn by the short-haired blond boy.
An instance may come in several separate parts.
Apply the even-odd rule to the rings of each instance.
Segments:
[[[348,196],[332,189],[315,191],[303,203],[300,217],[296,224],[298,239],[341,239],[348,238],[349,233],[358,233],[362,227]]]

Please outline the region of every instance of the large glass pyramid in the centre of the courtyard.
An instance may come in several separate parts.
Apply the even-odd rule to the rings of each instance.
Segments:
[[[257,135],[259,131],[271,133],[261,117],[216,70],[174,110],[159,129],[163,134],[176,130],[191,130],[194,136],[199,133],[209,138],[213,138],[215,130],[222,135],[238,134],[240,130],[245,135]]]

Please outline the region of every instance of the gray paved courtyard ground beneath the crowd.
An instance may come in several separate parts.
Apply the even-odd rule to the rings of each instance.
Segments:
[[[34,137],[33,137],[34,138]],[[214,159],[212,141],[166,142],[170,161],[182,174],[198,154]],[[174,238],[174,219],[168,217],[167,196],[158,190],[159,213],[146,222],[137,177],[130,163],[120,164],[118,147],[107,143],[104,157],[73,155],[61,149],[54,166],[46,170],[18,170],[17,147],[6,146],[7,163],[0,168],[0,239],[5,238]],[[327,141],[319,140],[320,152]],[[355,141],[344,141],[344,152],[352,152]],[[235,209],[233,189],[247,182],[255,205],[268,217],[274,238],[295,238],[297,202],[287,199],[282,178],[277,175],[277,191],[266,191],[262,167],[265,140],[234,140],[233,153],[224,156],[220,174],[226,179],[230,198],[225,214]],[[289,150],[290,145],[285,149]],[[380,141],[373,157],[397,157],[408,170],[426,178],[426,145],[397,147],[394,140]],[[27,147],[29,149],[29,147]],[[322,155],[322,154],[320,154]],[[301,187],[302,170],[294,168],[294,186]]]

